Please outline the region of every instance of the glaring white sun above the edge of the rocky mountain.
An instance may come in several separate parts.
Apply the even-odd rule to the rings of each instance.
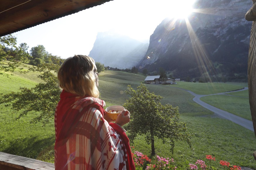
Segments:
[[[193,12],[196,0],[169,0],[165,6],[165,15],[168,18],[186,19]]]

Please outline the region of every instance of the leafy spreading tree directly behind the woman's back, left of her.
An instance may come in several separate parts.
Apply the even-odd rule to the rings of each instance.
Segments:
[[[57,84],[57,72],[60,65],[64,62],[56,56],[50,56],[51,63],[43,63],[38,67],[29,68],[30,71],[40,72],[38,76],[44,83],[38,83],[33,88],[22,87],[18,92],[9,94],[0,94],[0,104],[11,106],[13,110],[21,110],[18,119],[27,115],[31,111],[36,111],[39,114],[34,115],[31,122],[42,122],[47,124],[50,119],[53,119],[55,108],[60,100],[60,88]]]

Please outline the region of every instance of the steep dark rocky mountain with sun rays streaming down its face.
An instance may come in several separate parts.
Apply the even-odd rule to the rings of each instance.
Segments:
[[[198,0],[194,8],[201,12],[189,16],[189,22],[165,19],[157,26],[137,67],[152,74],[162,67],[183,79],[246,79],[252,22],[244,16],[251,7],[249,0]]]

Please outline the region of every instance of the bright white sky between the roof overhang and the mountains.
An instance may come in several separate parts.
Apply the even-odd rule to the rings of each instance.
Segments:
[[[17,44],[43,45],[52,55],[89,55],[98,32],[115,32],[148,42],[165,18],[185,18],[195,0],[113,0],[13,33]],[[186,12],[185,12],[186,11]]]

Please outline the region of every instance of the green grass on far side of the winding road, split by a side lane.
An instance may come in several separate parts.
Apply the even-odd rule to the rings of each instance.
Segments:
[[[241,89],[245,83],[188,83],[179,82],[175,86],[193,91],[197,94],[215,94]],[[213,95],[202,97],[201,100],[219,109],[233,113],[248,120],[252,120],[248,90],[230,92],[228,95]],[[237,96],[237,97],[235,97]]]

